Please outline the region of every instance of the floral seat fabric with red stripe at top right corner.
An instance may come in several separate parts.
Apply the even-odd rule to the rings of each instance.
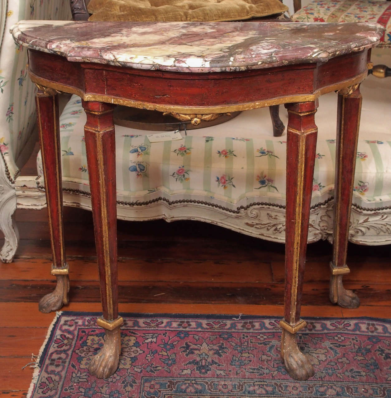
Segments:
[[[377,22],[386,30],[378,47],[391,47],[391,2],[314,0],[292,16],[295,22]]]

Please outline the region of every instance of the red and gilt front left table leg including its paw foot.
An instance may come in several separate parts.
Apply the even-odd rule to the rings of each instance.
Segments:
[[[103,306],[103,317],[97,324],[105,329],[105,344],[91,360],[89,371],[107,378],[118,367],[123,322],[118,316],[114,106],[83,101],[83,108],[87,114],[84,135]]]

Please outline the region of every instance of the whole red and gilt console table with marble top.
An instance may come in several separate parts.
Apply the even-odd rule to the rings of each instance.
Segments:
[[[382,28],[369,23],[131,23],[20,21],[11,29],[29,53],[53,250],[50,311],[67,302],[58,92],[79,95],[87,113],[85,144],[103,305],[98,325],[105,344],[90,372],[112,375],[120,355],[117,301],[116,174],[113,107],[158,110],[194,124],[224,113],[285,104],[286,280],[281,357],[291,377],[314,374],[298,349],[302,280],[316,154],[318,97],[338,92],[335,185],[334,294],[342,287],[356,144],[359,84],[371,67],[369,52]],[[345,292],[346,300],[355,300]],[[58,308],[58,307],[57,307]]]

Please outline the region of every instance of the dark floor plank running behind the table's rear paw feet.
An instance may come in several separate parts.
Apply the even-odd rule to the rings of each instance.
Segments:
[[[77,283],[77,284],[76,284]],[[95,281],[71,283],[72,302],[100,300],[99,284]],[[0,281],[0,302],[38,302],[54,289],[54,281]],[[346,284],[353,289],[363,305],[375,300],[378,305],[391,304],[391,285]],[[328,285],[306,283],[303,304],[328,305]],[[119,302],[158,303],[235,303],[282,304],[284,285],[281,283],[182,283],[182,282],[126,282],[118,285]]]

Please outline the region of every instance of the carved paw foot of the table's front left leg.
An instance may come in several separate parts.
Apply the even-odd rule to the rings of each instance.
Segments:
[[[97,378],[107,378],[113,375],[118,368],[121,351],[121,330],[105,330],[105,345],[93,357],[89,365],[91,375]]]

